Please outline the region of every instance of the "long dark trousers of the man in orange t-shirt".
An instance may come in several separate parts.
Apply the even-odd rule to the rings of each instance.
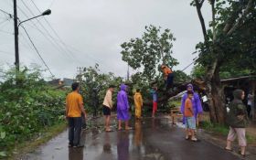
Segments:
[[[69,117],[69,144],[79,145],[81,133],[81,117]]]

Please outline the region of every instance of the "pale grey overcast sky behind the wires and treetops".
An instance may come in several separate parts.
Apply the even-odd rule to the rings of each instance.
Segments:
[[[18,0],[17,14],[21,20],[38,15],[31,0]],[[120,54],[124,41],[141,37],[144,27],[169,28],[176,37],[173,57],[184,69],[197,55],[196,44],[202,40],[197,11],[191,0],[33,0],[38,9],[52,10],[45,16],[58,33],[51,30],[43,17],[24,23],[48,67],[58,78],[73,78],[77,67],[100,64],[102,72],[112,71],[126,75],[127,64]],[[13,0],[1,0],[0,9],[13,14]],[[32,13],[30,13],[32,12]],[[210,12],[204,10],[208,24]],[[43,27],[42,27],[43,26]],[[15,61],[13,20],[0,12],[0,65],[6,67]],[[53,40],[55,39],[55,40]],[[20,61],[23,65],[37,63],[45,68],[20,28]],[[185,71],[190,73],[192,66]],[[48,73],[46,74],[48,75]]]

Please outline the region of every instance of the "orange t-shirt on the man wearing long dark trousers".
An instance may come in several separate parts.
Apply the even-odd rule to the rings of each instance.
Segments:
[[[83,104],[80,93],[72,91],[66,98],[66,104],[68,105],[68,117],[80,117],[80,104]]]

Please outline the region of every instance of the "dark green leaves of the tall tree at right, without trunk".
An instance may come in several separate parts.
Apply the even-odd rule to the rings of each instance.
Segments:
[[[234,77],[235,72],[255,73],[256,1],[252,2],[251,9],[245,13],[248,3],[249,0],[216,0],[216,19],[209,25],[214,29],[208,29],[207,40],[197,44],[197,62],[208,67],[213,59],[218,59],[221,77]]]

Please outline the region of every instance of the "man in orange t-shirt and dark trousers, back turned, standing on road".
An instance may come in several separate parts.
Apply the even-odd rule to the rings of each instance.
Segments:
[[[66,119],[69,122],[69,147],[83,147],[80,144],[81,113],[86,118],[78,82],[72,84],[72,92],[66,98]]]

